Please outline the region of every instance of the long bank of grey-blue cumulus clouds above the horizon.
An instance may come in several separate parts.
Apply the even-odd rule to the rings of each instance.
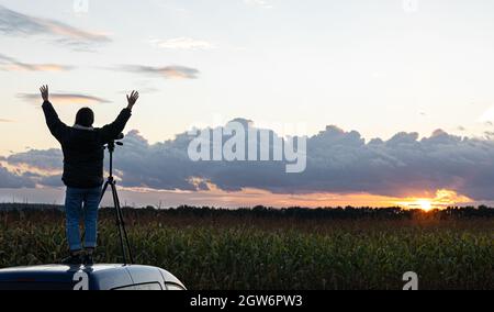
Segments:
[[[182,133],[172,141],[149,144],[137,131],[130,132],[125,146],[115,154],[121,185],[167,190],[214,185],[231,191],[258,188],[279,193],[393,197],[450,189],[475,200],[494,199],[494,141],[487,138],[459,137],[438,130],[424,138],[417,133],[398,133],[388,141],[366,142],[356,131],[328,126],[307,138],[307,165],[302,174],[287,174],[284,161],[194,163],[187,154],[192,138]],[[61,166],[59,151],[26,152],[7,161]],[[53,186],[56,180],[50,176],[40,181]]]

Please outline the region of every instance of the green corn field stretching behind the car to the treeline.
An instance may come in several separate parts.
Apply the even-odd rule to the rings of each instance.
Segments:
[[[189,289],[494,289],[494,219],[294,219],[125,210],[138,264],[165,268]],[[121,263],[111,211],[97,260]],[[66,256],[57,210],[0,212],[0,267]]]

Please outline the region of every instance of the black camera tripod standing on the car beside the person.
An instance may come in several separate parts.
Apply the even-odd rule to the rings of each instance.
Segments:
[[[130,259],[130,264],[134,263],[134,258],[132,257],[132,250],[131,250],[131,244],[128,243],[127,237],[127,231],[125,230],[125,223],[122,216],[122,208],[120,207],[120,200],[119,200],[119,193],[116,192],[116,181],[113,178],[113,152],[115,151],[115,145],[122,146],[122,142],[115,142],[110,141],[105,148],[108,148],[108,152],[110,153],[110,176],[106,179],[106,182],[104,182],[103,191],[101,192],[100,203],[101,200],[104,197],[104,192],[106,191],[106,188],[110,186],[112,190],[112,197],[113,197],[113,205],[115,208],[115,216],[116,216],[116,227],[119,229],[119,236],[120,236],[120,246],[122,248],[122,257],[124,265],[127,265],[127,255]]]

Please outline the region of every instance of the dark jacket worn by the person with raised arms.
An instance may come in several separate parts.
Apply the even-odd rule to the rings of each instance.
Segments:
[[[43,103],[46,124],[64,152],[61,180],[71,188],[96,188],[103,183],[103,145],[122,133],[131,118],[123,109],[116,120],[101,129],[70,127],[60,121],[52,103]]]

